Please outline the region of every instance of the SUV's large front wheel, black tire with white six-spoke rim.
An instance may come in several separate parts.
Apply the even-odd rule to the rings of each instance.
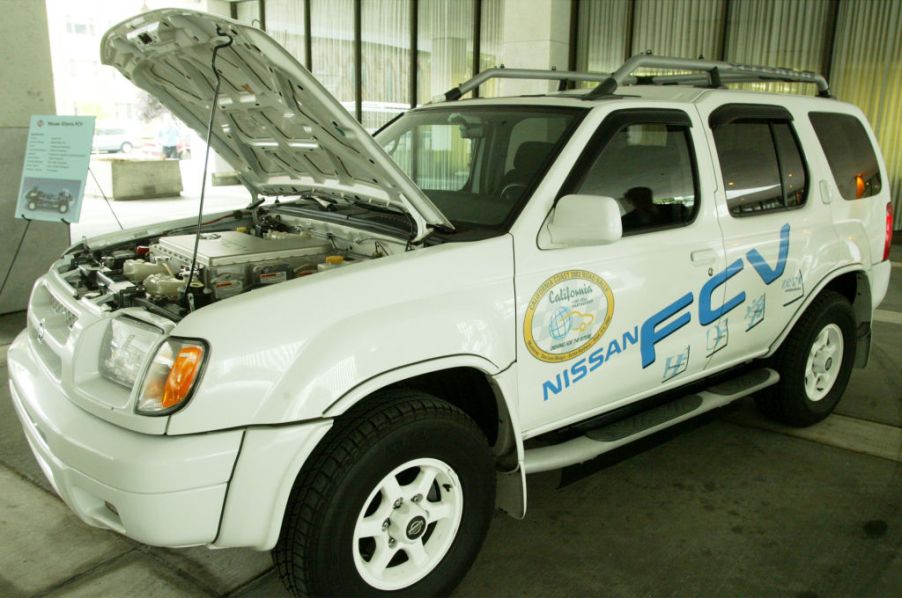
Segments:
[[[386,392],[339,418],[311,455],[273,561],[295,596],[447,595],[494,507],[492,455],[473,420],[427,394]]]

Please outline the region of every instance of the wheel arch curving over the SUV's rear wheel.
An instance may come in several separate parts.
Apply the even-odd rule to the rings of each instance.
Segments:
[[[789,324],[786,325],[780,336],[771,345],[766,357],[770,357],[777,352],[796,323],[798,323],[799,318],[802,317],[802,314],[824,291],[839,293],[852,304],[856,326],[854,366],[863,368],[867,365],[871,350],[871,320],[873,318],[874,305],[868,273],[860,264],[839,268],[827,274],[805,298],[805,301],[793,315]]]

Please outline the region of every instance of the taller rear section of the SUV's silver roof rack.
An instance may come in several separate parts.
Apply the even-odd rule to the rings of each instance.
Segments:
[[[704,74],[634,76],[633,71],[640,68],[703,71]],[[710,87],[721,87],[724,82],[755,81],[813,83],[817,85],[818,96],[830,97],[830,87],[827,85],[827,80],[823,75],[810,71],[735,64],[714,60],[692,60],[690,58],[637,54],[623,63],[623,66],[611,73],[611,76],[602,81],[595,89],[586,94],[586,99],[611,95],[621,85],[704,85],[707,83]]]

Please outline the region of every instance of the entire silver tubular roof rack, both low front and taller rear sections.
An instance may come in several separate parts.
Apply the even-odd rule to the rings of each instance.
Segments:
[[[701,71],[687,75],[633,75],[640,68],[667,69],[680,71]],[[530,79],[542,81],[596,81],[597,87],[584,97],[595,99],[613,94],[623,85],[696,85],[719,88],[725,83],[752,83],[757,81],[785,81],[794,83],[813,83],[817,85],[817,95],[829,98],[830,87],[823,75],[811,71],[756,66],[752,64],[736,64],[715,60],[676,58],[672,56],[654,56],[650,53],[637,54],[623,63],[613,73],[581,73],[577,71],[557,71],[540,69],[506,69],[503,66],[482,71],[472,79],[453,87],[444,94],[436,96],[433,101],[452,102],[464,94],[473,91],[490,79]]]

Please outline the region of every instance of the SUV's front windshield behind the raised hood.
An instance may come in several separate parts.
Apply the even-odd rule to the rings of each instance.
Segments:
[[[461,228],[509,225],[585,114],[580,108],[415,110],[376,141]]]

